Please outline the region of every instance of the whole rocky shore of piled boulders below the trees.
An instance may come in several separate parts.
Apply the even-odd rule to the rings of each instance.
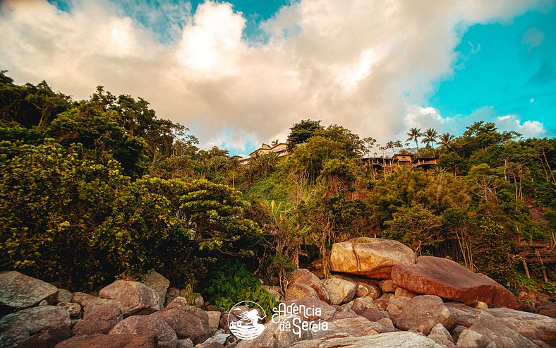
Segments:
[[[157,272],[116,280],[98,294],[1,272],[0,347],[556,346],[554,298],[533,308],[485,275],[451,260],[416,257],[384,239],[334,244],[330,261],[334,273],[326,280],[315,264],[291,274],[284,296],[267,287],[285,306],[318,311],[267,320],[248,341],[231,335],[227,313],[189,306]],[[326,330],[282,330],[284,321],[295,320],[318,321]]]

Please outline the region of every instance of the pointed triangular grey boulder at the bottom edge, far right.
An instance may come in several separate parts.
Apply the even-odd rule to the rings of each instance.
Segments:
[[[494,345],[492,344],[494,342]],[[536,348],[526,337],[508,328],[501,320],[486,311],[479,313],[471,328],[464,330],[457,340],[458,348]]]

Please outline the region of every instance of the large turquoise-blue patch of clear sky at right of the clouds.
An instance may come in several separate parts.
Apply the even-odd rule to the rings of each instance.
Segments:
[[[461,38],[454,76],[435,81],[429,98],[441,114],[467,115],[485,105],[556,128],[556,8],[511,23],[473,25]],[[480,49],[479,49],[480,47]]]

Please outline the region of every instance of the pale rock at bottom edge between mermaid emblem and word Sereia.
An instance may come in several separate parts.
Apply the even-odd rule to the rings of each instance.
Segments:
[[[279,323],[272,323],[272,320],[265,324],[265,330],[254,340],[243,340],[236,345],[236,348],[289,348],[292,344],[302,340],[313,338],[311,331],[301,330],[280,330],[280,325],[290,325],[294,327],[294,322],[301,323],[302,318],[298,316],[281,316]]]

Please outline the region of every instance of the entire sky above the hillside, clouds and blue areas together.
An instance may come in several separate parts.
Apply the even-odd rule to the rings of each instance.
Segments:
[[[555,0],[1,0],[0,69],[143,97],[231,155],[301,119],[384,144],[492,121],[556,134]]]

